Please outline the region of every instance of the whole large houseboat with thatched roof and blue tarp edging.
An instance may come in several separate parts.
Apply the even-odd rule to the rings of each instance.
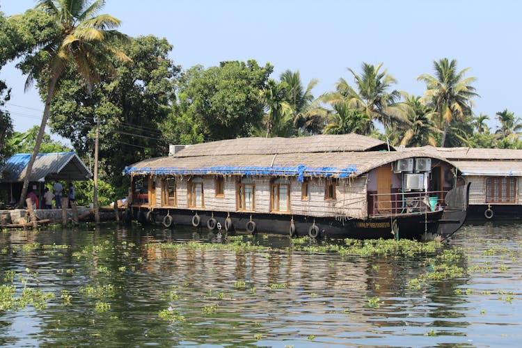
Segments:
[[[141,223],[310,237],[431,238],[466,218],[438,155],[357,134],[190,145],[125,168]]]

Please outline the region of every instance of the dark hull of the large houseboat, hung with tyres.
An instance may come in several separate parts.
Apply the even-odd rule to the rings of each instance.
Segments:
[[[154,223],[162,225],[167,209],[154,209],[151,221],[146,221],[145,216],[147,209],[141,210],[133,208],[134,218],[141,223]],[[216,230],[221,226],[221,230],[225,230],[224,226],[228,213],[226,212],[205,212],[200,210],[188,209],[170,209],[170,215],[175,224],[194,226],[194,216],[199,217],[198,227],[208,228],[209,219],[214,217]],[[427,235],[432,237],[436,235],[438,221],[441,219],[443,211],[401,214],[400,216],[388,216],[380,219],[342,219],[342,218],[314,218],[311,216],[293,216],[294,235],[306,236],[310,235],[310,228],[317,226],[317,237],[332,238],[358,238],[358,239],[374,239],[374,238],[395,238],[398,237],[409,239],[425,239]],[[231,230],[246,231],[252,228],[252,224],[247,226],[248,221],[255,223],[255,232],[267,232],[279,235],[290,235],[292,226],[292,216],[287,214],[249,214],[249,213],[232,213]],[[172,226],[171,226],[172,227]]]

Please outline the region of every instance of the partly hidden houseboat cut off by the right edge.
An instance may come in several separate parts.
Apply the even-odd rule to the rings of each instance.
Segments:
[[[486,148],[419,148],[442,156],[459,168],[457,185],[469,184],[468,216],[480,219],[522,217],[522,150]]]

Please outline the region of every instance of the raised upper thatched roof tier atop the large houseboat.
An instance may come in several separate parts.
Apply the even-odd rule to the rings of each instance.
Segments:
[[[358,134],[315,135],[299,138],[239,138],[200,143],[177,152],[175,157],[209,155],[274,155],[313,152],[387,150],[384,141]],[[395,150],[395,148],[390,148]]]

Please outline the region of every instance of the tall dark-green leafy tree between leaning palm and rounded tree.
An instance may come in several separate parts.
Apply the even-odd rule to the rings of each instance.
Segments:
[[[77,72],[63,77],[53,103],[50,125],[70,139],[79,155],[93,152],[95,117],[100,118],[100,177],[116,187],[126,182],[121,172],[140,159],[168,153],[165,120],[175,99],[172,78],[179,68],[168,58],[172,46],[152,35],[134,38],[122,51],[133,65],[113,58],[117,74],[100,74],[102,83],[90,91]]]

